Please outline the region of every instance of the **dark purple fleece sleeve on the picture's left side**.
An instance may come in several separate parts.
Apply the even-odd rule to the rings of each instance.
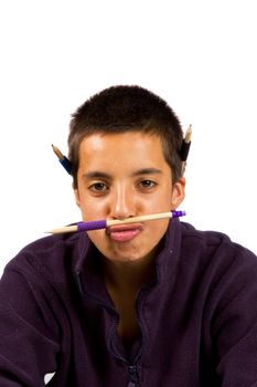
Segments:
[[[33,271],[7,266],[0,281],[0,386],[45,386],[56,370],[58,326],[51,286]]]

